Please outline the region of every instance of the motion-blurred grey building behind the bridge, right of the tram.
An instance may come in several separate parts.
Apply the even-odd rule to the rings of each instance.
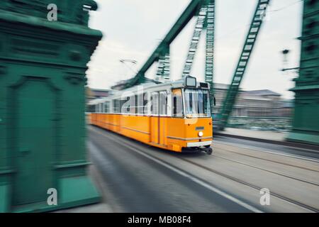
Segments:
[[[214,84],[215,115],[220,114],[228,84]],[[283,99],[281,94],[269,89],[240,90],[228,127],[255,128],[262,130],[289,130],[293,101]]]

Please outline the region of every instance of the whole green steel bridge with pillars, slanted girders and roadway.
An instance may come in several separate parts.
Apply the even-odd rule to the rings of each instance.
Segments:
[[[215,119],[220,131],[233,118],[231,113],[240,84],[262,25],[267,23],[264,17],[270,2],[256,0],[233,79]],[[154,63],[158,64],[156,79],[169,79],[170,45],[196,17],[181,77],[191,74],[199,40],[205,35],[205,79],[214,94],[216,4],[217,0],[192,0],[138,73],[114,88],[142,84],[147,80],[145,73]],[[252,201],[252,197],[258,197],[259,189],[267,184],[274,187],[274,206],[265,211],[283,211],[285,207],[284,211],[318,212],[319,170],[315,149],[319,145],[319,3],[304,0],[303,5],[301,62],[296,87],[292,89],[296,99],[288,141],[277,149],[276,145],[219,138],[216,158],[203,160],[201,156],[192,159],[160,153],[158,149],[151,150],[97,128],[86,129],[86,64],[103,36],[101,31],[88,26],[89,11],[98,9],[95,1],[2,0],[0,212],[52,211],[101,201],[99,190],[86,172],[91,165],[86,153],[86,133],[94,166],[99,167],[103,180],[113,180],[120,200],[124,198],[123,204],[126,202],[130,207],[124,211],[145,211],[145,204],[152,204],[151,211],[163,211],[163,208],[167,208],[166,211],[171,208],[176,208],[172,211],[212,211],[216,207],[217,211],[234,211],[234,207],[237,207],[235,211],[261,211],[264,208],[260,208],[259,200],[256,204],[257,200]],[[52,15],[47,14],[48,9]],[[58,21],[55,21],[55,13],[58,13]],[[249,148],[243,146],[245,144]],[[296,144],[300,150],[294,148]],[[307,153],[307,149],[311,152]],[[150,163],[157,168],[150,168]],[[205,182],[203,175],[208,176]],[[259,182],[260,176],[264,181]],[[118,179],[125,179],[125,187]],[[144,184],[140,184],[142,179]],[[158,179],[169,184],[162,184]],[[178,187],[174,188],[175,185]],[[169,192],[182,192],[181,196],[161,194],[167,192],[167,187],[172,189]],[[227,194],[230,189],[239,189],[243,192],[240,197],[245,199],[240,201]],[[54,204],[55,196],[57,204]],[[171,201],[185,201],[185,204],[167,206]],[[248,204],[245,201],[249,201]]]

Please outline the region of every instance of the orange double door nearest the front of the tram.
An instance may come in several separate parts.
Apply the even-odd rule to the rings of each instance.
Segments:
[[[151,142],[164,145],[167,119],[167,92],[151,94]]]

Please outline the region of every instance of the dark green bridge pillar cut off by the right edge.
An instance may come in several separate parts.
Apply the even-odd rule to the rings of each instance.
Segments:
[[[319,1],[303,1],[300,74],[293,131],[287,140],[319,145]]]

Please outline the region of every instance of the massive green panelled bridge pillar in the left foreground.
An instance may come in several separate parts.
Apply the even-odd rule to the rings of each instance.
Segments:
[[[88,28],[96,9],[92,0],[1,0],[0,212],[100,199],[86,176],[84,116],[86,64],[102,37]]]

